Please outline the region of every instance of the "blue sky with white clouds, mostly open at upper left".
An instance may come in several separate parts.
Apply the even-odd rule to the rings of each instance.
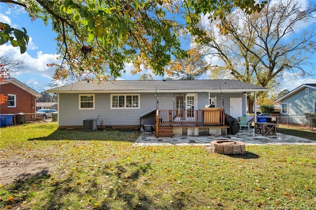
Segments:
[[[49,89],[48,83],[52,83],[54,73],[53,67],[47,67],[46,64],[58,62],[56,60],[56,42],[54,40],[55,33],[51,31],[51,26],[45,26],[41,19],[31,21],[29,15],[17,7],[8,8],[5,3],[0,3],[0,21],[21,29],[27,29],[30,36],[30,41],[27,46],[27,52],[20,54],[19,48],[12,47],[10,44],[0,45],[0,56],[6,55],[10,58],[20,59],[25,61],[25,68],[12,74],[21,82],[27,84],[38,92]],[[316,26],[316,23],[313,23]],[[190,47],[189,40],[183,41],[185,48]],[[316,65],[316,56],[311,60]],[[311,71],[314,71],[310,69]],[[143,71],[132,75],[130,68],[127,67],[126,73],[119,79],[138,79],[142,73],[151,71]],[[154,76],[154,75],[153,75]],[[285,80],[280,89],[293,90],[303,83],[316,83],[316,77],[313,78],[293,78],[290,74],[283,75]],[[159,76],[154,76],[155,79],[161,79]],[[207,79],[208,76],[203,77]]]

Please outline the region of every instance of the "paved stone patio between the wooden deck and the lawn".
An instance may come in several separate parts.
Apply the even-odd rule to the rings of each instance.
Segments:
[[[316,145],[316,140],[307,140],[299,137],[276,133],[275,136],[262,136],[255,134],[253,129],[249,131],[239,131],[236,135],[226,136],[175,136],[172,138],[156,138],[155,132],[143,132],[135,141],[135,145],[154,146],[154,145],[177,145],[177,146],[209,146],[213,140],[237,140],[246,145],[295,145],[310,144]]]

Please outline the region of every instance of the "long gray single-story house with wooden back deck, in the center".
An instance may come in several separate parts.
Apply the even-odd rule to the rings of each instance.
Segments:
[[[48,90],[58,94],[59,128],[140,129],[156,136],[226,135],[225,115],[246,114],[246,95],[268,91],[238,80],[79,81]],[[146,130],[146,129],[145,129]]]

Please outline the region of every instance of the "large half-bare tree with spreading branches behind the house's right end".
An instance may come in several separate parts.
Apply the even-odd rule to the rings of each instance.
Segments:
[[[314,2],[303,8],[296,0],[269,0],[260,12],[237,9],[227,16],[229,33],[204,20],[201,48],[211,60],[220,61],[212,66],[213,78],[230,77],[276,89],[285,72],[311,75],[305,68],[312,65],[308,59],[316,50],[316,30],[309,27],[301,32],[299,27],[315,19],[315,11]],[[249,94],[247,101],[251,111],[253,96]]]

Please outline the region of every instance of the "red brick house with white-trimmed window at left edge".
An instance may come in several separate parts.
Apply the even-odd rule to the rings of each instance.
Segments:
[[[35,120],[36,99],[41,95],[15,78],[6,78],[0,84],[0,94],[7,102],[0,105],[0,114],[25,113],[26,121]]]

